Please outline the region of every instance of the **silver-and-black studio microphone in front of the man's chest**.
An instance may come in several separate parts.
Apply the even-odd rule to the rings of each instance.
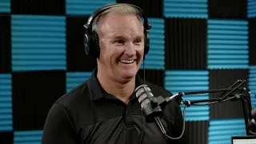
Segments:
[[[146,122],[149,123],[155,122],[155,118],[162,118],[166,104],[173,98],[184,95],[184,93],[179,93],[167,98],[162,98],[162,96],[154,97],[150,87],[147,85],[138,86],[134,92],[142,107],[143,114],[146,117]]]

